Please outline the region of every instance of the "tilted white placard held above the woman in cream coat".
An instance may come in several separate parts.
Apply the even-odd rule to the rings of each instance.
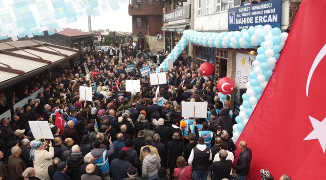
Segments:
[[[54,139],[48,121],[28,121],[34,138]]]

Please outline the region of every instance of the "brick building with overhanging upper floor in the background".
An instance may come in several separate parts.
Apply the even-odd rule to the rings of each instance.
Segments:
[[[150,48],[152,52],[164,48],[161,27],[163,10],[161,0],[130,0],[129,15],[132,16],[132,38],[139,49]]]

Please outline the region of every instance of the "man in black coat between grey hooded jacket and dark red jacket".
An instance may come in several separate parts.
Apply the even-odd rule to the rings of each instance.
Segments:
[[[173,134],[173,140],[168,142],[169,149],[169,161],[168,165],[170,168],[170,179],[174,179],[173,171],[176,167],[176,161],[179,156],[182,156],[182,152],[184,151],[184,144],[182,141],[179,141],[180,134],[175,132]]]

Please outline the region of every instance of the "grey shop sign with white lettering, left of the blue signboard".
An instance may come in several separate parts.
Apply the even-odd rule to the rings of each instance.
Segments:
[[[190,4],[163,14],[163,22],[190,18]]]

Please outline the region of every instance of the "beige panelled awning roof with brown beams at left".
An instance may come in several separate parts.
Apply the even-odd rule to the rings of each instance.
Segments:
[[[36,40],[0,43],[0,86],[15,84],[78,54],[78,49]]]

